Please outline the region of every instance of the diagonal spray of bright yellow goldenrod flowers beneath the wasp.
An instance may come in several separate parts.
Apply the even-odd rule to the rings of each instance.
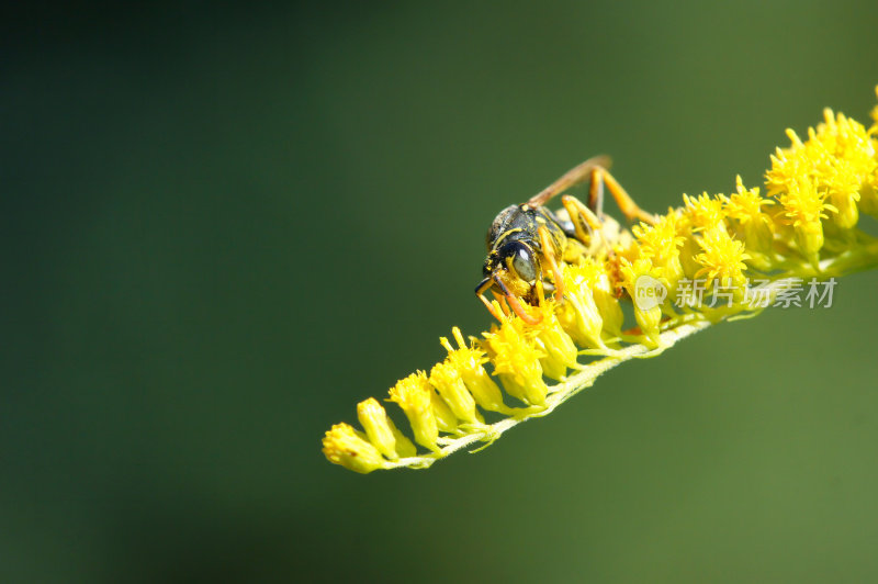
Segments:
[[[362,431],[337,424],[326,433],[326,458],[362,473],[428,467],[545,415],[623,360],[758,312],[747,297],[751,279],[780,288],[790,278],[876,267],[878,245],[856,227],[862,214],[878,216],[878,106],[871,115],[869,130],[826,110],[807,139],[787,131],[790,146],[770,157],[767,196],[738,177],[728,196],[684,195],[682,207],[634,226],[633,237],[608,240],[610,251],[561,262],[563,299],[525,307],[538,324],[507,313],[469,341],[454,328],[455,346],[441,339],[442,362],[390,390],[387,401],[402,409],[414,442],[370,397],[357,407]],[[697,281],[723,302],[694,302],[686,293]],[[662,296],[638,302],[643,282]],[[630,300],[637,326],[626,329],[622,303]]]

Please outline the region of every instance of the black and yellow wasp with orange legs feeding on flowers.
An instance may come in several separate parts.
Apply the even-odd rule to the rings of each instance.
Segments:
[[[605,215],[604,188],[610,192],[626,220],[653,224],[655,217],[640,209],[609,173],[610,159],[596,156],[575,166],[526,203],[509,205],[497,214],[487,232],[488,255],[482,270],[484,279],[475,294],[497,319],[499,303],[491,303],[485,292],[505,300],[528,324],[539,323],[522,305],[539,305],[544,292],[556,301],[564,296],[560,262],[576,262],[582,257],[607,257],[614,244],[630,238],[630,233]],[[588,204],[573,195],[561,196],[562,209],[544,205],[572,187],[590,181]],[[551,281],[548,276],[551,274]]]

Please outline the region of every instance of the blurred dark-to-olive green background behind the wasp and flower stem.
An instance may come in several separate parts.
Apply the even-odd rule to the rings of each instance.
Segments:
[[[484,233],[607,153],[761,180],[878,82],[871,0],[209,2],[4,19],[2,582],[865,582],[878,274],[429,471],[328,464],[489,324]]]

